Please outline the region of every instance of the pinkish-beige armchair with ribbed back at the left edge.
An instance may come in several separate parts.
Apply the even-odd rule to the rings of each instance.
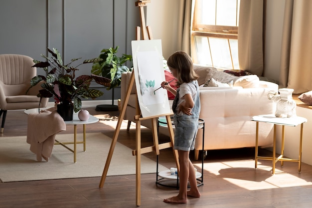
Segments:
[[[40,85],[31,88],[30,80],[36,76],[36,67],[29,56],[18,54],[0,54],[0,117],[2,115],[1,133],[3,133],[7,110],[43,108],[48,98],[37,97]],[[40,102],[40,104],[39,104]]]

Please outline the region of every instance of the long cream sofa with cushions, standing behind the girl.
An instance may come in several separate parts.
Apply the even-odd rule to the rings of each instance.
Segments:
[[[194,65],[200,75],[199,85],[211,86],[213,80],[218,87],[200,87],[201,111],[199,117],[204,120],[204,150],[234,149],[255,147],[256,122],[251,121],[255,115],[273,114],[276,104],[267,98],[269,91],[278,91],[278,85],[260,81],[256,75],[233,76],[211,67]],[[122,74],[121,100],[125,99],[131,72]],[[212,79],[211,79],[212,78]],[[209,83],[207,83],[209,80]],[[222,84],[220,84],[222,83]],[[231,83],[225,86],[224,83]],[[135,122],[136,90],[133,87],[124,119]],[[172,100],[169,100],[170,106]],[[129,124],[130,124],[129,123]],[[152,128],[150,120],[142,125]],[[168,134],[167,128],[159,128],[160,134]],[[259,125],[259,146],[272,146],[273,125]],[[195,159],[202,150],[202,129],[198,131],[195,143]]]

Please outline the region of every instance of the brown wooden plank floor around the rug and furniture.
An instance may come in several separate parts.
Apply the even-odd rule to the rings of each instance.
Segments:
[[[116,119],[118,111],[97,112],[94,108],[87,110],[100,118],[100,122],[88,125],[87,132],[103,132],[113,137],[116,126],[105,125],[101,120]],[[72,130],[72,126],[67,126],[67,131],[61,133]],[[22,111],[9,111],[0,137],[22,136],[26,132],[27,115]],[[79,132],[82,129],[78,128]],[[142,146],[152,145],[151,135],[149,129],[142,129]],[[165,141],[168,138],[161,136],[160,142]],[[135,129],[129,132],[121,130],[118,142],[135,149]],[[141,207],[312,207],[312,166],[302,164],[302,173],[298,173],[298,163],[285,162],[284,167],[280,167],[278,163],[276,174],[272,176],[270,161],[259,161],[258,169],[254,169],[254,152],[254,148],[209,151],[204,160],[204,185],[199,187],[201,198],[190,198],[186,205],[163,203],[164,198],[176,195],[177,190],[157,186],[156,174],[143,174]],[[191,160],[200,172],[201,161],[194,161],[193,154],[190,153]],[[271,152],[260,150],[260,154],[270,155]],[[154,153],[145,156],[156,161]],[[174,167],[172,150],[161,150],[159,163],[167,168]],[[100,179],[101,177],[0,183],[0,208],[137,207],[135,175],[106,177],[103,188],[99,188]]]

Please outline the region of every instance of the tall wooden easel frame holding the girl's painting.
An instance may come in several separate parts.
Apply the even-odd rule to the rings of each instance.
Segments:
[[[146,6],[148,2],[151,2],[151,1],[150,0],[136,1],[136,6],[138,6],[140,8],[141,26],[142,26],[141,29],[142,29],[142,36],[143,36],[144,40],[153,39],[151,27],[149,27],[149,26],[146,27],[145,18],[144,18],[143,6]],[[149,38],[147,37],[147,33],[148,33]],[[137,27],[137,40],[140,40],[140,39],[141,39],[140,27],[138,26]],[[118,135],[120,132],[121,123],[122,123],[123,118],[125,116],[126,107],[128,105],[129,97],[131,94],[131,89],[133,87],[134,82],[135,82],[135,76],[134,76],[134,71],[132,71],[130,82],[129,82],[128,87],[127,87],[127,94],[126,94],[124,102],[122,103],[121,113],[120,113],[120,116],[118,118],[118,123],[117,123],[117,127],[115,130],[115,134],[114,134],[112,144],[110,147],[110,151],[108,153],[106,164],[105,164],[105,167],[103,170],[102,178],[101,178],[100,185],[99,185],[100,188],[103,188],[103,185],[104,185],[104,182],[105,182],[105,179],[107,176],[108,168],[109,168],[109,165],[111,163],[113,152],[114,152],[116,142],[118,139]],[[141,154],[145,154],[145,153],[155,151],[156,155],[159,155],[159,150],[171,147],[173,150],[174,157],[175,157],[176,167],[178,169],[178,172],[180,171],[180,167],[179,167],[179,163],[178,163],[178,153],[176,150],[173,149],[174,133],[173,133],[170,115],[172,115],[172,113],[143,118],[141,116],[140,106],[139,106],[139,102],[138,102],[138,95],[137,95],[136,116],[135,116],[135,121],[136,121],[136,150],[132,151],[132,155],[136,156],[136,181],[137,181],[137,183],[136,183],[136,205],[137,206],[141,206]],[[166,121],[167,121],[169,135],[170,135],[170,142],[162,143],[162,144],[158,144],[158,134],[157,134],[157,118],[160,116],[165,116]],[[147,119],[152,120],[152,127],[153,127],[152,131],[153,131],[154,145],[150,146],[150,147],[141,148],[141,121],[147,120]]]

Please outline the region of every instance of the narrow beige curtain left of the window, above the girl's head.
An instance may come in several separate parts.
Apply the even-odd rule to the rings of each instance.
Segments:
[[[191,55],[191,8],[192,0],[178,2],[179,22],[177,34],[177,50],[182,50]]]

